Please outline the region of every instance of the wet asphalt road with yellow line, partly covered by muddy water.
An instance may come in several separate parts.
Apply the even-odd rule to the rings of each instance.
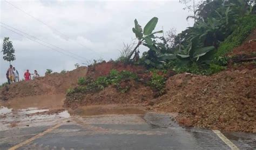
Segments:
[[[0,107],[0,149],[256,149],[255,134],[183,128],[173,115],[115,105]]]

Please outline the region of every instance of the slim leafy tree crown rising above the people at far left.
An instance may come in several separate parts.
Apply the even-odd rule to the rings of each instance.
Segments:
[[[12,42],[9,40],[9,37],[5,37],[3,41],[3,59],[8,61],[11,64],[11,61],[14,61],[15,58],[15,49],[12,45]]]

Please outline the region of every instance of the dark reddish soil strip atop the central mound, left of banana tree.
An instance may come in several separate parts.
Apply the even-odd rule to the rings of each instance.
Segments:
[[[107,76],[112,69],[115,69],[118,71],[126,70],[131,72],[140,72],[145,70],[143,66],[125,65],[120,62],[119,63],[103,62],[96,65],[90,65],[88,67],[87,76],[92,78]]]

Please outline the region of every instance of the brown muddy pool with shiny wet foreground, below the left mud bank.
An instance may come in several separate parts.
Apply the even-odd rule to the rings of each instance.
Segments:
[[[18,127],[50,126],[69,118],[63,94],[16,98],[0,103],[0,131]]]

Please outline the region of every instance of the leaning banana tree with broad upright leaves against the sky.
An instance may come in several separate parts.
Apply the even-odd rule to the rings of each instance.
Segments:
[[[134,20],[134,28],[132,28],[133,33],[135,33],[136,38],[138,39],[138,44],[134,47],[134,49],[131,51],[129,56],[127,57],[127,60],[130,60],[132,57],[132,54],[138,49],[140,45],[145,45],[149,47],[150,49],[155,50],[154,44],[156,44],[156,40],[152,40],[153,38],[156,38],[154,34],[156,33],[163,33],[163,30],[153,32],[154,28],[156,28],[158,22],[157,17],[153,17],[142,29],[142,26],[138,24],[137,19]]]

